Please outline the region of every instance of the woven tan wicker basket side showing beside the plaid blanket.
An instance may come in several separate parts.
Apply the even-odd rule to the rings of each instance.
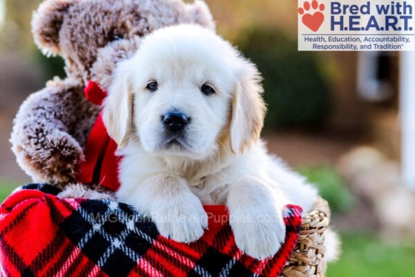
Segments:
[[[311,213],[303,216],[302,230],[291,257],[280,277],[324,277],[324,231],[329,226],[330,208],[324,199],[318,199]]]

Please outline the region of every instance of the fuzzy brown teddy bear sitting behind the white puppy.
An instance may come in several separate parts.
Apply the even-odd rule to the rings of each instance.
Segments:
[[[136,51],[152,30],[181,23],[214,28],[203,1],[46,0],[33,17],[37,46],[60,55],[67,78],[55,78],[21,105],[12,131],[12,151],[33,181],[76,183],[83,147],[100,107],[84,96],[89,80],[107,89],[117,62]]]

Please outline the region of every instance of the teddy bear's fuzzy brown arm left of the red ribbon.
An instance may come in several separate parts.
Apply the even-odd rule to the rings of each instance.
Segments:
[[[98,107],[71,80],[53,80],[21,105],[15,118],[12,151],[34,181],[68,184],[75,181],[82,145]]]

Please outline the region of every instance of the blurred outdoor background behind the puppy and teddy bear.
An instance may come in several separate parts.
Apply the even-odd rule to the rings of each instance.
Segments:
[[[21,101],[46,80],[64,76],[62,60],[44,57],[33,44],[30,17],[39,2],[0,0],[0,199],[30,181],[10,151],[12,118]],[[396,221],[385,213],[393,203],[386,196],[401,187],[398,177],[393,178],[400,135],[398,55],[388,55],[382,69],[389,76],[391,96],[370,102],[358,93],[356,72],[363,54],[297,51],[297,1],[206,2],[218,33],[264,76],[269,109],[264,139],[270,152],[316,184],[331,205],[332,226],[343,246],[327,276],[414,276],[415,229],[403,223],[409,218],[410,224],[412,215]],[[406,195],[414,197],[412,192]]]

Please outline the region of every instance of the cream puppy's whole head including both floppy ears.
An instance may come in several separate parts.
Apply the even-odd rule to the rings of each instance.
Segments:
[[[135,139],[152,154],[192,159],[213,154],[227,128],[239,152],[262,127],[257,76],[255,66],[210,30],[158,30],[119,66],[104,123],[120,147]]]

